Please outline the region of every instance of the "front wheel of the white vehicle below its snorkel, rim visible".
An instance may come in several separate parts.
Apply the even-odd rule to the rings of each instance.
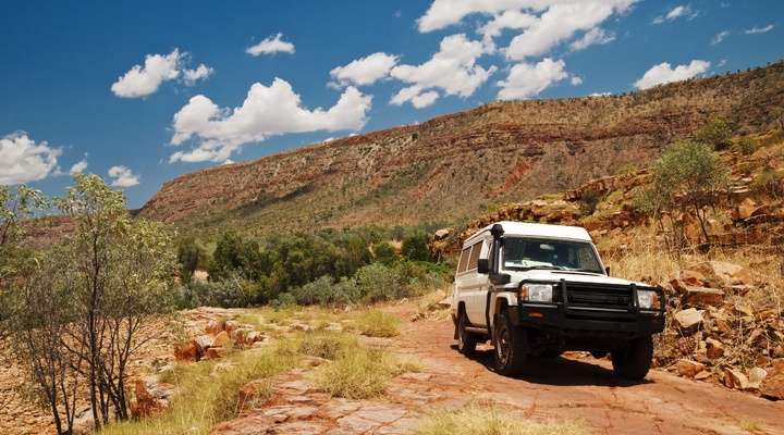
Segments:
[[[511,376],[523,371],[528,357],[528,336],[525,330],[512,324],[506,310],[495,315],[493,346],[497,372]]]

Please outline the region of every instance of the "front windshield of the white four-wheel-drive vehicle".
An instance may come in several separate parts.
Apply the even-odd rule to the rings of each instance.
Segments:
[[[593,246],[585,241],[506,237],[503,268],[527,271],[552,269],[604,273]]]

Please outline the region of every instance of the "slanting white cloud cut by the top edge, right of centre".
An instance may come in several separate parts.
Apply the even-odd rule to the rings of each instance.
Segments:
[[[576,32],[593,29],[613,13],[626,11],[633,3],[634,0],[607,0],[554,4],[520,35],[512,38],[510,46],[505,49],[506,58],[523,60],[528,57],[546,54],[553,47],[572,38]],[[596,30],[591,37],[603,36],[604,39],[609,37],[600,35],[598,32]],[[597,38],[591,44],[600,40],[601,38]],[[584,44],[586,41],[579,45]]]

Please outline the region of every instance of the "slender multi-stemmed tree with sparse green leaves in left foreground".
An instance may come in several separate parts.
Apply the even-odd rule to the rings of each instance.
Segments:
[[[74,271],[66,291],[99,430],[110,410],[119,420],[128,418],[127,363],[144,344],[139,330],[170,308],[176,261],[163,225],[132,220],[122,192],[97,175],[76,175],[56,202],[75,224],[63,251],[64,264]]]

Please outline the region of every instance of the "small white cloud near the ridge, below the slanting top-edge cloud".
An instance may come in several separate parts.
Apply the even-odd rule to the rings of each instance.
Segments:
[[[518,63],[512,66],[505,80],[498,83],[501,87],[498,98],[514,100],[534,97],[553,83],[568,77],[565,66],[564,61],[553,61],[550,58],[536,64]]]

